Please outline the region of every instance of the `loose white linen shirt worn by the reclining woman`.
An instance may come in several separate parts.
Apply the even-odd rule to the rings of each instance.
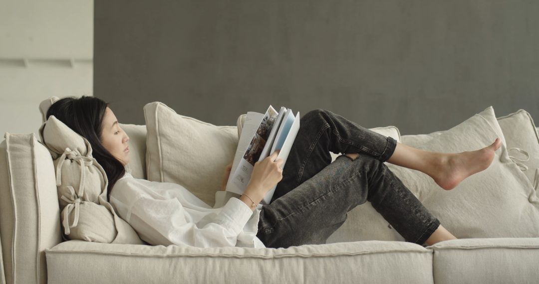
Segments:
[[[151,245],[265,247],[256,236],[261,207],[252,211],[235,197],[211,208],[179,184],[126,172],[114,184],[110,204]]]

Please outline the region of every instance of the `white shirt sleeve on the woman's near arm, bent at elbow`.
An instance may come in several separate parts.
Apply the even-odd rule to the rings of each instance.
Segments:
[[[145,235],[158,233],[172,244],[196,247],[236,246],[239,233],[253,214],[238,198],[230,198],[220,211],[210,212],[198,224],[176,198],[142,196],[132,208],[131,214],[143,222],[139,224],[142,228],[135,230],[154,230]]]

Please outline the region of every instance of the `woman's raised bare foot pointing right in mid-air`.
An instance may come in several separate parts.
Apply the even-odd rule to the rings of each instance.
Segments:
[[[466,177],[487,169],[500,146],[501,140],[496,138],[494,143],[476,151],[447,153],[441,158],[437,174],[431,177],[441,188],[451,190]]]

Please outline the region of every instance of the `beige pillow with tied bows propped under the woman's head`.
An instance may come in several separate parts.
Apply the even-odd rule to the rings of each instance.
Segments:
[[[107,176],[92,157],[88,140],[54,116],[42,124],[39,135],[53,159],[63,238],[143,244],[107,202]]]

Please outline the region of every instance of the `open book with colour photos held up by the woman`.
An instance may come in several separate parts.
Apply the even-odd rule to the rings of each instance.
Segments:
[[[251,180],[254,163],[262,161],[272,153],[280,150],[277,159],[282,159],[285,167],[288,154],[300,128],[300,113],[292,113],[292,109],[281,106],[277,112],[269,105],[266,113],[249,111],[245,118],[243,130],[239,138],[229,181],[225,191],[216,193],[214,208],[222,207],[230,197],[239,197],[244,193]],[[277,186],[268,191],[260,201],[269,204]]]

